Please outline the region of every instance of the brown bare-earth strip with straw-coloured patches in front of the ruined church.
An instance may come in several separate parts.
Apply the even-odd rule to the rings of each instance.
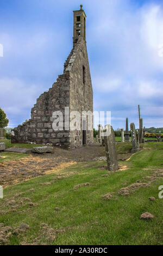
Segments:
[[[126,160],[130,155],[119,154],[118,160]],[[76,162],[97,161],[101,156],[105,156],[105,148],[99,144],[93,144],[73,150],[55,148],[54,154],[32,154],[18,160],[3,161],[0,163],[0,185],[7,187],[64,169]]]

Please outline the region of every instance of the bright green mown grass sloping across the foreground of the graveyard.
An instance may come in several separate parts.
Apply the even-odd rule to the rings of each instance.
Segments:
[[[129,145],[130,143],[128,143]],[[163,143],[162,143],[163,144]],[[122,143],[120,151],[127,151],[127,143]],[[147,144],[149,145],[149,143]],[[163,185],[163,179],[157,179],[149,187],[140,187],[129,196],[115,194],[115,198],[104,200],[102,196],[108,192],[133,184],[144,176],[152,175],[152,170],[162,167],[163,148],[141,150],[129,161],[120,162],[128,169],[111,173],[99,169],[106,162],[82,162],[60,171],[63,177],[57,180],[57,174],[49,174],[30,179],[18,185],[4,189],[4,199],[0,199],[0,209],[5,199],[13,199],[14,194],[23,192],[20,198],[15,198],[19,208],[16,212],[0,215],[0,223],[18,227],[21,223],[30,225],[23,236],[12,235],[9,243],[18,245],[23,241],[32,243],[42,234],[40,224],[46,223],[56,234],[54,241],[39,238],[39,243],[53,245],[162,245],[162,211],[163,199],[158,198],[158,187]],[[122,147],[122,146],[121,146]],[[162,146],[160,146],[162,147]],[[103,177],[103,174],[109,176]],[[67,178],[64,178],[65,175]],[[45,182],[51,182],[43,186]],[[79,187],[77,184],[90,182],[91,186]],[[29,191],[35,188],[35,191]],[[151,202],[148,197],[155,197]],[[28,197],[33,208],[21,205],[20,199]],[[11,207],[11,206],[10,206]],[[55,210],[59,207],[59,210]],[[3,210],[10,209],[4,206]],[[26,210],[22,212],[22,210]],[[153,220],[140,220],[143,212],[151,212]],[[58,231],[57,231],[58,230]]]

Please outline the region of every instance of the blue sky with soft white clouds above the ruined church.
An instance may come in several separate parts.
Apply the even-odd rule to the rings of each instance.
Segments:
[[[162,0],[1,0],[0,107],[15,127],[62,74],[72,48],[73,10],[87,15],[86,41],[95,111],[163,127]]]

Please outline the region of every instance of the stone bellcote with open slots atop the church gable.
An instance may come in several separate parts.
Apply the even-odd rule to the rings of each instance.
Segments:
[[[73,46],[78,41],[79,37],[86,40],[86,15],[80,5],[80,10],[73,11]]]

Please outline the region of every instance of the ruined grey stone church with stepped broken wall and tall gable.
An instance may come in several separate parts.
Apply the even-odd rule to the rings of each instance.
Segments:
[[[65,109],[80,112],[80,130],[67,129]],[[53,113],[63,113],[63,129],[53,129]],[[83,111],[93,113],[93,92],[89,60],[86,48],[86,15],[80,10],[73,11],[73,48],[64,64],[64,72],[59,75],[52,88],[40,95],[31,111],[31,119],[18,125],[12,132],[12,143],[36,143],[77,148],[93,143],[92,129],[88,129],[82,119]],[[69,126],[71,118],[68,119]],[[83,126],[86,128],[83,129]]]

